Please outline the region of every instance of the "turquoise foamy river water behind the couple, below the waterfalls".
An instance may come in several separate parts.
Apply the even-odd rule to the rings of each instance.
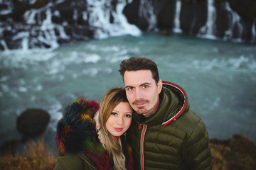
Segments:
[[[185,89],[210,138],[242,133],[256,141],[255,46],[181,35],[127,35],[56,50],[1,52],[0,142],[21,137],[18,115],[42,108],[51,115],[46,141],[55,146],[63,108],[81,96],[100,102],[107,89],[123,86],[119,62],[132,56],[154,60],[161,79]]]

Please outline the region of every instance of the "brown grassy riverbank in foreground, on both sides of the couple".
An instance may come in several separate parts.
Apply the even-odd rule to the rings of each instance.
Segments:
[[[43,140],[31,141],[23,154],[6,152],[0,155],[2,170],[50,170],[57,161],[56,153]],[[249,137],[233,135],[231,139],[210,140],[213,170],[253,170],[256,168],[256,147]]]

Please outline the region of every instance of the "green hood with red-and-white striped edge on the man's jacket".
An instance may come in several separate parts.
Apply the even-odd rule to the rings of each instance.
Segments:
[[[149,118],[143,115],[134,114],[134,120],[139,124],[168,125],[178,118],[179,115],[188,111],[188,97],[186,92],[178,85],[168,81],[163,81],[163,89],[159,95],[160,105],[156,113]]]

